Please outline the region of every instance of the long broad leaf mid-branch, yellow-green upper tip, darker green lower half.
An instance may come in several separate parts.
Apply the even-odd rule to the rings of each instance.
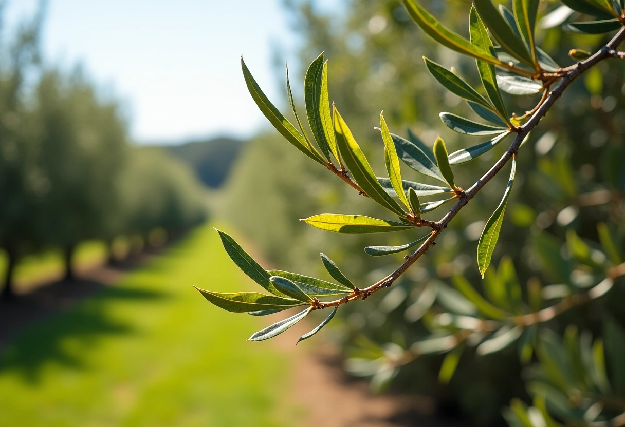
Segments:
[[[341,157],[361,189],[382,207],[397,215],[405,215],[401,206],[395,199],[386,194],[384,189],[382,189],[382,185],[377,182],[376,175],[373,173],[369,161],[364,157],[362,150],[336,107],[334,108],[334,130],[336,130],[336,142],[339,152],[341,152]]]

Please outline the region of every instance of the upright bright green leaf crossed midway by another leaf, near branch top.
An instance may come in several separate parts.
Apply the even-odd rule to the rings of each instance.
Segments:
[[[484,49],[484,51],[491,52],[493,56],[496,53],[492,47],[491,38],[488,36],[486,27],[480,19],[474,6],[471,6],[471,13],[469,14],[469,32],[471,34],[471,42]],[[501,114],[503,120],[508,120],[506,106],[501,98],[499,87],[497,86],[497,79],[495,74],[495,67],[488,62],[480,61],[476,59],[477,71],[479,71],[479,77],[482,80],[486,94],[492,102],[497,112]],[[501,118],[500,118],[501,120]],[[506,122],[504,122],[506,124]]]

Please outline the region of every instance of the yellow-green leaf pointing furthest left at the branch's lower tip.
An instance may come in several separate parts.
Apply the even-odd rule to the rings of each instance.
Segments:
[[[228,312],[245,313],[260,310],[284,310],[286,308],[302,305],[301,302],[290,298],[281,298],[275,296],[264,295],[257,292],[237,292],[222,293],[211,292],[198,287],[194,287],[219,308],[223,308]]]

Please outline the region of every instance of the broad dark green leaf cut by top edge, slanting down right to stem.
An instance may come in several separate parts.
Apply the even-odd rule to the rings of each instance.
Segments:
[[[491,0],[475,0],[474,4],[482,21],[501,47],[523,64],[534,68],[534,61],[525,44],[514,34],[496,7],[492,6]]]

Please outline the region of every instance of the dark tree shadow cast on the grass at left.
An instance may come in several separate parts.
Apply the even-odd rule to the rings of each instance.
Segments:
[[[130,324],[111,316],[113,304],[153,302],[166,297],[168,294],[152,290],[79,280],[53,283],[2,302],[0,372],[13,371],[36,383],[47,363],[88,369],[81,351],[104,336],[138,333]]]

